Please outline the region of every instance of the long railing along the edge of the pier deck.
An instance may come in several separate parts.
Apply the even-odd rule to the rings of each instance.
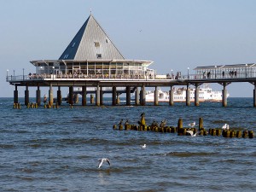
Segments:
[[[248,72],[248,73],[213,73],[209,75],[204,74],[187,74],[182,76],[174,76],[174,75],[156,75],[156,76],[135,76],[135,75],[55,75],[55,74],[32,74],[32,75],[9,75],[6,76],[7,82],[14,81],[35,81],[35,80],[72,80],[72,79],[84,79],[84,80],[150,80],[150,81],[160,81],[160,80],[194,80],[194,79],[252,79],[256,78],[256,72]]]

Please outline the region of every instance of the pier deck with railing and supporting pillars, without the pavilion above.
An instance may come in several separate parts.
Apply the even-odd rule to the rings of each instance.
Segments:
[[[126,95],[126,105],[131,105],[131,93],[135,92],[135,104],[136,105],[146,105],[145,94],[148,87],[154,87],[154,105],[157,106],[158,102],[158,90],[161,87],[169,87],[170,90],[170,101],[169,105],[174,105],[173,102],[173,87],[177,85],[187,86],[186,92],[186,105],[190,105],[190,96],[189,96],[189,87],[195,86],[195,106],[199,106],[199,86],[201,84],[221,84],[223,86],[223,107],[227,107],[227,87],[231,83],[249,83],[254,84],[253,90],[253,107],[256,107],[256,77],[252,76],[252,74],[244,74],[244,78],[242,77],[225,77],[218,78],[219,74],[216,78],[201,78],[200,75],[194,74],[189,75],[189,79],[185,79],[185,77],[181,77],[180,79],[153,79],[151,77],[144,77],[142,79],[128,79],[128,78],[113,78],[113,79],[102,79],[102,78],[66,78],[63,79],[59,76],[49,77],[38,77],[34,75],[33,77],[25,75],[25,76],[8,76],[7,81],[9,84],[15,85],[14,90],[14,102],[18,103],[18,87],[25,86],[25,105],[29,103],[29,87],[38,87],[36,92],[37,103],[38,106],[41,104],[41,91],[40,87],[49,87],[49,98],[48,102],[50,105],[53,104],[54,94],[53,87],[57,87],[57,101],[58,104],[61,105],[61,87],[69,88],[69,98],[68,102],[70,104],[73,103],[73,89],[74,87],[81,88],[82,95],[82,105],[86,105],[86,96],[89,93],[95,92],[96,94],[96,106],[103,105],[103,94],[104,93],[112,93],[112,105],[117,105],[117,98],[121,93],[125,93]],[[215,76],[214,76],[215,77]],[[94,90],[91,90],[94,88]]]

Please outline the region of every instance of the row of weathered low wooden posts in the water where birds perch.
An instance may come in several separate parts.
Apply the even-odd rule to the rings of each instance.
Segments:
[[[125,127],[124,127],[125,126]],[[124,129],[125,128],[125,129]],[[147,126],[147,125],[113,125],[113,130],[119,131],[154,131],[154,132],[166,132],[166,133],[177,133],[178,136],[190,136],[187,131],[193,131],[194,134],[197,129],[194,128],[183,128],[183,119],[178,119],[177,127],[175,126]],[[203,128],[203,119],[199,119],[198,135],[200,136],[223,136],[223,137],[243,137],[253,138],[253,131],[240,131],[240,130],[223,130],[223,129],[209,129],[208,131]]]

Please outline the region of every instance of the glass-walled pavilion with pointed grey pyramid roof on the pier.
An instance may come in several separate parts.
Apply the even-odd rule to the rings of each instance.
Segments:
[[[37,77],[58,79],[145,79],[154,77],[153,61],[125,60],[90,15],[58,60],[31,61]],[[148,71],[148,73],[147,73]],[[34,77],[36,78],[36,77]]]

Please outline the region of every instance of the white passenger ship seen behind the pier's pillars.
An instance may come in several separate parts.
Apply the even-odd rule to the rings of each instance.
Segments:
[[[186,102],[187,88],[174,88],[173,101]],[[189,88],[190,102],[195,102],[195,88]],[[229,97],[230,94],[227,94]],[[154,90],[146,91],[146,102],[154,102]],[[169,102],[169,91],[158,90],[158,102]],[[212,90],[209,87],[199,88],[199,102],[222,102],[222,91]]]

